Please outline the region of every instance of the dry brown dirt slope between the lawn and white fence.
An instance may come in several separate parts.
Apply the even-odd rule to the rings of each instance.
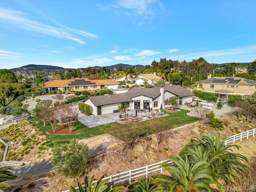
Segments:
[[[222,120],[229,119],[230,125],[225,127],[223,131],[216,131],[211,127],[205,126],[205,130],[203,131],[204,134],[213,133],[220,134],[221,136],[232,136],[233,134],[250,130],[256,126],[256,120],[253,120],[250,124],[244,120],[238,121],[231,113],[222,114],[217,116],[217,118]],[[153,160],[146,160],[145,156],[136,150],[124,153],[120,152],[120,150],[115,151],[118,146],[113,140],[111,140],[111,138],[105,136],[81,140],[80,142],[88,143],[90,149],[98,148],[98,146],[100,146],[102,143],[108,143],[107,146],[102,147],[102,150],[98,154],[112,151],[96,159],[92,159],[90,161],[90,170],[86,174],[89,177],[94,175],[95,178],[99,178],[103,174],[109,176],[118,172],[124,172],[129,169],[145,166],[146,164],[166,160],[178,154],[180,149],[189,142],[192,136],[198,136],[203,134],[203,132],[198,128],[197,123],[193,123],[172,130],[172,136],[168,138],[168,140],[160,143],[159,146],[156,146],[156,141],[153,138],[152,145],[150,146],[150,150],[154,151],[156,154]],[[242,146],[242,150],[237,150],[234,152],[244,154],[248,157],[252,156],[252,154],[256,152],[256,147],[252,147],[256,146],[256,137],[250,138],[248,141],[238,142],[237,144]],[[77,186],[73,179],[63,178],[60,174],[55,173],[54,170],[50,171],[50,173],[54,173],[55,175],[53,176],[53,174],[50,174],[49,176],[49,172],[46,172],[44,174],[19,176],[17,180],[13,180],[10,183],[14,186],[22,186],[21,192],[58,192],[66,190],[64,182],[68,183],[69,185],[71,184],[72,186]],[[26,189],[24,186],[30,181],[35,182],[36,186],[31,189]],[[83,181],[83,178],[80,178],[80,181]]]

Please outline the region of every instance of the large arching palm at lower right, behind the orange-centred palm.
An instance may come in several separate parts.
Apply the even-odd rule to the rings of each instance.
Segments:
[[[214,178],[232,185],[233,178],[240,178],[239,173],[248,172],[248,159],[240,154],[232,153],[231,148],[239,149],[238,145],[225,145],[227,138],[203,135],[192,137],[191,142],[180,152],[181,156],[188,156],[193,163],[201,160],[209,163],[209,168],[214,171]],[[197,155],[196,155],[197,154]]]

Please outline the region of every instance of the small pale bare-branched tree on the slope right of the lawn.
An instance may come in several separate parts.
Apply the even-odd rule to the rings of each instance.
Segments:
[[[195,108],[192,108],[191,112],[193,112],[195,117],[199,119],[200,129],[204,128],[204,125],[209,121],[209,118],[206,115],[210,113],[210,109],[201,104]]]

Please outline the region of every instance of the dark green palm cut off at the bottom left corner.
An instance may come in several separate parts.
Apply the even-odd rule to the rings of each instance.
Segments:
[[[10,166],[0,167],[0,192],[4,192],[1,188],[11,188],[11,186],[4,181],[15,179],[17,176],[11,171],[13,170]]]

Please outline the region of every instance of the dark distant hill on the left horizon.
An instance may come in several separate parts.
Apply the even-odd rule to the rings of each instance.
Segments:
[[[55,70],[64,70],[63,67],[51,66],[51,65],[25,65],[18,68],[10,69],[11,71],[55,71]]]

